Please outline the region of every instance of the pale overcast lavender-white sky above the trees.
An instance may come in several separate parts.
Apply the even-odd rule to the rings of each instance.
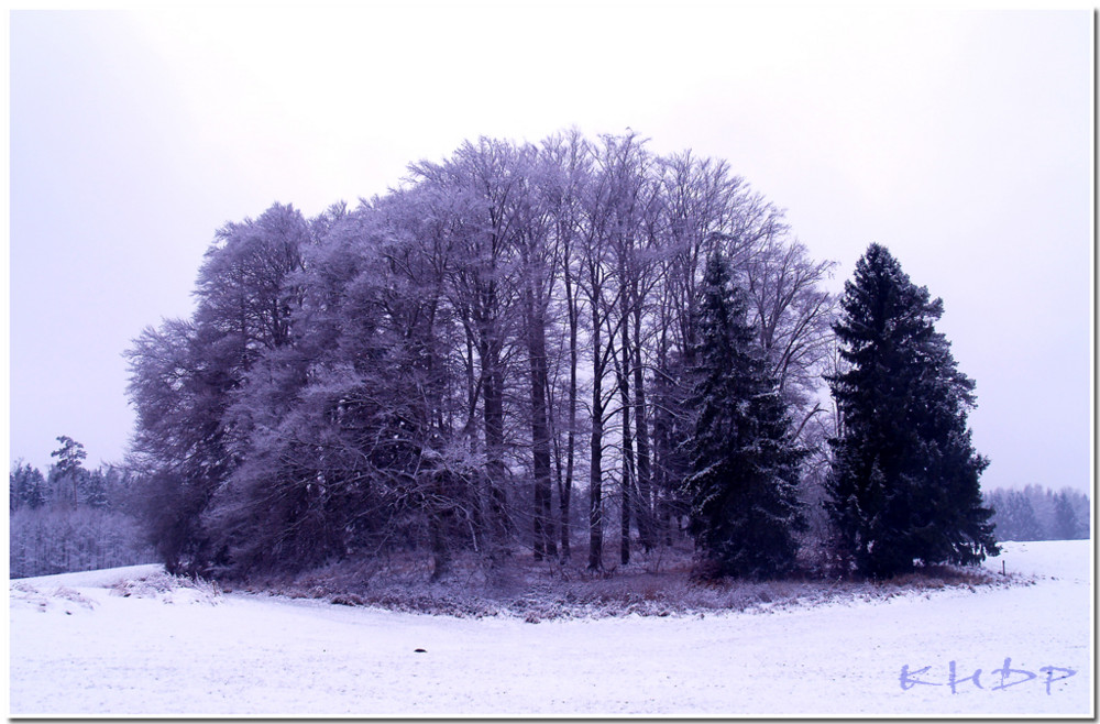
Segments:
[[[385,193],[479,135],[726,158],[839,263],[944,299],[982,484],[1089,486],[1092,13],[728,2],[14,12],[10,453],[133,429],[122,358],[216,229]]]

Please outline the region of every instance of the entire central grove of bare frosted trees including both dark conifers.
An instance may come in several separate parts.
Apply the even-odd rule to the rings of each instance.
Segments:
[[[724,161],[632,132],[483,138],[355,207],[275,204],[128,351],[136,505],[169,571],[215,575],[603,572],[685,537],[744,578],[996,555],[942,303],[878,244],[843,299],[832,272]]]

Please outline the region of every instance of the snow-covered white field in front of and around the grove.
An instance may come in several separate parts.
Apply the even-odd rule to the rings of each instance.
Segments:
[[[539,624],[23,579],[10,714],[1091,716],[1090,542],[1002,560],[1034,583]]]

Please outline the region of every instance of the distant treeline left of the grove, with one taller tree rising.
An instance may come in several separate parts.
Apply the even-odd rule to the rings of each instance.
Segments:
[[[131,475],[86,470],[84,446],[58,441],[45,475],[22,461],[9,473],[11,578],[155,562],[130,509]]]

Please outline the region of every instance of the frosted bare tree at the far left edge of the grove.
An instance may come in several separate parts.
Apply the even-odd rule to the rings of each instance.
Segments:
[[[199,270],[194,317],[146,329],[128,352],[138,413],[130,462],[172,572],[204,570],[220,555],[202,516],[254,431],[229,412],[257,361],[293,343],[295,278],[310,239],[301,215],[279,204],[227,224]]]

